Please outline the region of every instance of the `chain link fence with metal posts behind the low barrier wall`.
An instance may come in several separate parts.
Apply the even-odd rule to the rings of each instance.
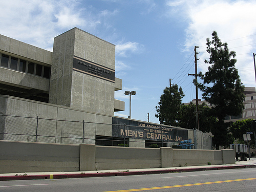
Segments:
[[[184,139],[169,138],[173,142],[166,142],[163,134],[159,134],[163,133],[162,130],[151,137],[145,137],[140,129],[142,127],[125,124],[0,115],[0,140],[129,147],[177,147]],[[184,129],[176,130],[176,132],[179,131],[184,132]],[[185,131],[188,133],[187,137],[191,139],[196,134],[194,139],[197,149],[211,150],[210,136],[200,131]]]

